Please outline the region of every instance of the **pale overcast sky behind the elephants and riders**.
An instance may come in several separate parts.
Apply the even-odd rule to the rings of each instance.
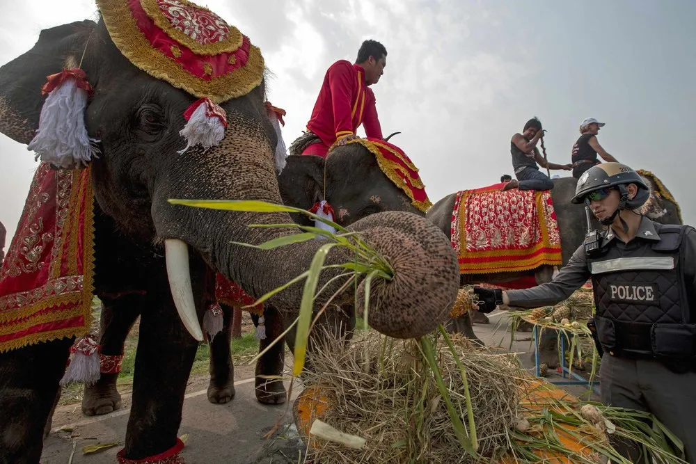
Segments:
[[[7,1],[0,65],[41,29],[96,19],[89,0]],[[512,173],[509,141],[537,115],[549,161],[567,163],[587,117],[619,161],[653,171],[696,224],[696,1],[208,0],[258,45],[274,73],[269,99],[287,111],[290,145],[326,68],[354,61],[362,40],[387,48],[373,87],[384,134],[420,168],[433,202]],[[58,70],[56,70],[57,72]],[[0,221],[9,246],[36,167],[0,134]],[[565,171],[561,175],[568,175]]]

